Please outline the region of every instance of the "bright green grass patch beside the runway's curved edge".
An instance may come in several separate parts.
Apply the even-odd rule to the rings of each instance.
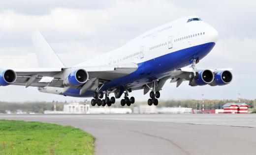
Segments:
[[[70,126],[0,120],[0,155],[93,155],[94,140]]]

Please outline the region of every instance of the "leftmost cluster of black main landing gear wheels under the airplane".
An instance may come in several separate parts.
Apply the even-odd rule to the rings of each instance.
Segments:
[[[94,94],[93,94],[94,99],[92,99],[92,101],[91,101],[92,106],[95,106],[96,104],[98,106],[100,106],[100,105],[105,106],[106,104],[107,104],[107,106],[111,106],[111,104],[114,104],[116,102],[116,98],[111,97],[109,99],[107,93],[105,95],[105,99],[102,99],[103,96],[104,96],[103,92],[94,92]]]

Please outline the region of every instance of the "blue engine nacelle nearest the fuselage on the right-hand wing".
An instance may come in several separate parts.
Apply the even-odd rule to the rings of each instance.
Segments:
[[[196,72],[196,77],[190,80],[191,86],[206,85],[214,80],[214,74],[210,70]]]

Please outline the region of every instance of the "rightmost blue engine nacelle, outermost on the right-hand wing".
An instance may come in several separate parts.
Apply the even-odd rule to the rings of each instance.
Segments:
[[[231,82],[233,76],[230,71],[220,71],[214,76],[214,80],[210,83],[211,86],[226,85]]]

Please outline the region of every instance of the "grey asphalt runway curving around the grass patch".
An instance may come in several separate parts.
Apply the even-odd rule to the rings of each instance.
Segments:
[[[96,155],[255,155],[256,114],[0,115],[70,125],[96,137]]]

